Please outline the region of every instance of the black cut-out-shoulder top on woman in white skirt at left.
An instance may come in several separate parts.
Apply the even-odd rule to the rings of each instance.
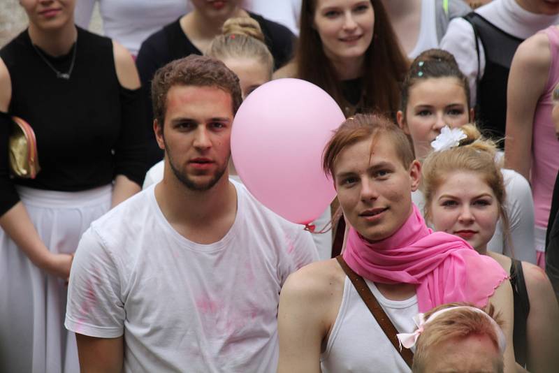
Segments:
[[[58,71],[75,64],[68,80]],[[19,197],[13,184],[53,191],[83,191],[125,175],[141,185],[146,172],[140,89],[121,87],[112,41],[78,28],[78,41],[61,57],[35,50],[26,31],[0,50],[12,82],[8,115],[33,127],[41,171],[36,179],[10,179],[9,117],[0,117],[0,215]]]

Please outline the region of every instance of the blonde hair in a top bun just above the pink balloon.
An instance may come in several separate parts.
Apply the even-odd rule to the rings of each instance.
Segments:
[[[250,17],[229,18],[222,27],[222,35],[216,36],[205,54],[217,59],[256,59],[266,66],[270,79],[274,58],[264,43],[260,24]]]

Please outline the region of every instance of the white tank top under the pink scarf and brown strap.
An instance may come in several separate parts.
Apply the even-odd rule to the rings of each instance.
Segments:
[[[407,300],[389,300],[375,284],[365,281],[395,328],[399,332],[412,332],[415,328],[412,317],[419,312],[417,296]],[[323,373],[411,372],[347,276],[340,311],[320,363]]]

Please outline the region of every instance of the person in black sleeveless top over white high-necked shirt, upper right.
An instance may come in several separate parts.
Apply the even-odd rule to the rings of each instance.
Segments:
[[[477,121],[493,139],[504,137],[507,79],[522,41],[559,22],[559,2],[493,0],[449,24],[440,47],[451,52],[470,84]]]

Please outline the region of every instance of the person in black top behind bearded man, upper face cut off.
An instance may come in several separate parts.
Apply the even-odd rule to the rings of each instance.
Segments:
[[[291,58],[293,33],[281,24],[240,8],[240,0],[192,0],[191,3],[194,10],[152,34],[140,47],[136,65],[148,98],[151,97],[150,82],[158,68],[189,54],[203,54],[210,42],[222,34],[224,22],[231,17],[252,17],[259,22],[264,41],[274,57],[275,68]],[[152,121],[152,109],[149,105],[147,109],[146,115]],[[151,124],[147,136],[149,161],[153,165],[163,159],[163,151],[157,146]]]

